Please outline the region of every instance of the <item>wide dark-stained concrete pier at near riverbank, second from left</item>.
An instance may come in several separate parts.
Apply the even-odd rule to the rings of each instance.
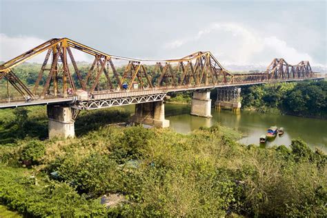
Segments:
[[[137,103],[135,105],[135,115],[132,116],[130,121],[159,128],[169,127],[169,120],[165,119],[164,101]]]

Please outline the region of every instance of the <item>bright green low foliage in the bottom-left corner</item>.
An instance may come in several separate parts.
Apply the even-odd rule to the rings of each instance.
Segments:
[[[1,172],[1,204],[6,204],[23,215],[86,217],[106,214],[102,206],[94,201],[87,201],[68,184],[38,181],[30,177],[31,171],[6,166],[1,166]]]

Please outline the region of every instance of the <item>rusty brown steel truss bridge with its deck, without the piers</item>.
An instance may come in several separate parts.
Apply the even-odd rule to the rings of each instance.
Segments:
[[[78,54],[90,55],[92,65],[78,64]],[[34,86],[28,86],[15,69],[37,55],[44,55],[44,61]],[[305,79],[321,79],[308,61],[290,65],[274,59],[264,72],[231,73],[210,52],[140,60],[106,54],[67,38],[50,39],[0,66],[0,108],[68,103],[97,109],[159,101],[168,92]]]

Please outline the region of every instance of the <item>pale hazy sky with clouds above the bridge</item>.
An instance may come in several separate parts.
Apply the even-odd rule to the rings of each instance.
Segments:
[[[326,1],[0,0],[0,60],[68,37],[141,59],[210,50],[223,64],[326,66],[326,19]]]

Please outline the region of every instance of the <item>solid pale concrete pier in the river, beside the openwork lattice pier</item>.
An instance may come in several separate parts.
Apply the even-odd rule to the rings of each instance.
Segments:
[[[190,114],[199,117],[208,117],[208,118],[212,117],[210,92],[208,91],[193,92]]]

